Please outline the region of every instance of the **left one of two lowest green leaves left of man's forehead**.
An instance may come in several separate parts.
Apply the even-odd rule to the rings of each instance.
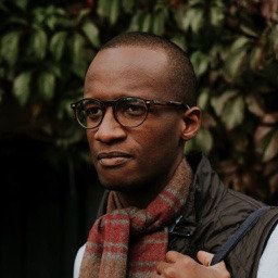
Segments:
[[[27,103],[30,96],[30,78],[31,72],[24,72],[13,81],[13,94],[22,106]]]

